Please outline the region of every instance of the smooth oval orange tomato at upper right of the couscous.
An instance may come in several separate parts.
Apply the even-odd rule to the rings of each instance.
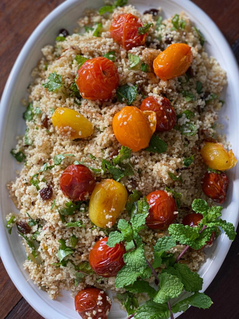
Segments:
[[[163,81],[183,75],[192,63],[191,47],[185,43],[170,44],[154,59],[154,72]]]

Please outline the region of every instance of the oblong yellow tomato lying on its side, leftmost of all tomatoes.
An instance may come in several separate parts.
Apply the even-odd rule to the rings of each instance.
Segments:
[[[88,137],[94,131],[90,121],[70,108],[57,108],[52,115],[52,124],[70,139]]]

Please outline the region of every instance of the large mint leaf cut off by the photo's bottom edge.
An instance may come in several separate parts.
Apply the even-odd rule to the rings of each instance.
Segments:
[[[156,303],[152,300],[146,301],[136,310],[134,319],[168,319],[170,311],[168,305]]]

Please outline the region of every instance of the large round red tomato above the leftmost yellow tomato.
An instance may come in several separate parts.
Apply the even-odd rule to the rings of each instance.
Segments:
[[[109,99],[119,85],[117,66],[102,56],[85,61],[77,74],[76,84],[83,99]]]

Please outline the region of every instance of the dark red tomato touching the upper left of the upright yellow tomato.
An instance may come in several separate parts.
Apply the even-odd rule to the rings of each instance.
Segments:
[[[69,165],[60,177],[62,193],[73,200],[84,200],[95,187],[95,177],[84,165]]]

